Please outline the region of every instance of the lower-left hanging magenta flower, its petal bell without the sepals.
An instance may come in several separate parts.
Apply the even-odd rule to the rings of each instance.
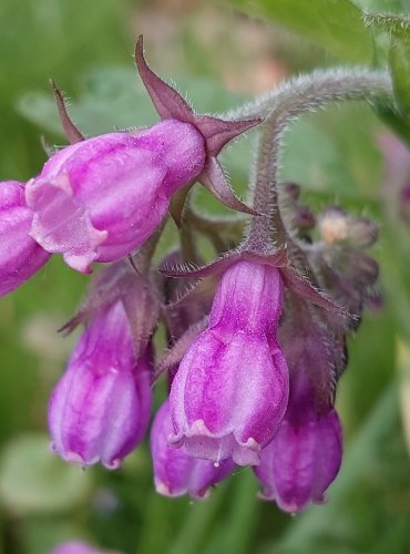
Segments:
[[[53,450],[70,462],[116,469],[145,433],[150,373],[147,353],[134,355],[122,302],[95,314],[50,400]]]

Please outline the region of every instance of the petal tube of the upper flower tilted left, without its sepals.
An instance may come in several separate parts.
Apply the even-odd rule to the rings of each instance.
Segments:
[[[31,236],[79,271],[115,261],[155,232],[171,195],[195,179],[205,155],[201,133],[176,120],[68,146],[27,184]]]

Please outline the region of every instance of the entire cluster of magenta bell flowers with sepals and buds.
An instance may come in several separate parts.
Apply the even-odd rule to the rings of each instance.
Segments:
[[[283,245],[255,247],[239,236],[216,263],[174,270],[202,278],[193,287],[165,268],[186,259],[184,252],[168,256],[160,275],[151,264],[156,235],[168,211],[181,224],[195,181],[225,205],[260,216],[233,195],[216,160],[258,120],[195,114],[146,65],[141,41],[136,63],[160,123],[85,140],[57,91],[72,144],[25,185],[0,186],[2,295],[52,254],[81,273],[111,263],[64,326],[85,329],[50,400],[52,449],[83,466],[119,468],[146,432],[152,383],[168,370],[170,396],[151,430],[158,493],[206,499],[236,465],[249,465],[263,497],[284,511],[324,502],[341,463],[335,389],[346,336],[376,298],[377,264],[363,253],[376,228],[339,208],[315,217],[298,204],[298,186],[287,184]],[[223,230],[206,225],[221,244]],[[168,350],[155,362],[158,320]]]

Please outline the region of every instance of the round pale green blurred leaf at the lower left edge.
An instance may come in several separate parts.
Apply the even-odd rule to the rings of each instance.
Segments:
[[[47,435],[20,435],[1,453],[0,500],[14,515],[66,511],[86,499],[90,478],[52,454]]]

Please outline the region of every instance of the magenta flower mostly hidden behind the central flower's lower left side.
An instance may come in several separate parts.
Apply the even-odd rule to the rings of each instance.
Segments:
[[[235,464],[232,459],[214,464],[209,460],[192,458],[184,448],[170,447],[167,439],[173,431],[166,401],[157,411],[151,431],[155,489],[165,496],[189,494],[193,499],[205,500],[212,486],[227,478]]]

